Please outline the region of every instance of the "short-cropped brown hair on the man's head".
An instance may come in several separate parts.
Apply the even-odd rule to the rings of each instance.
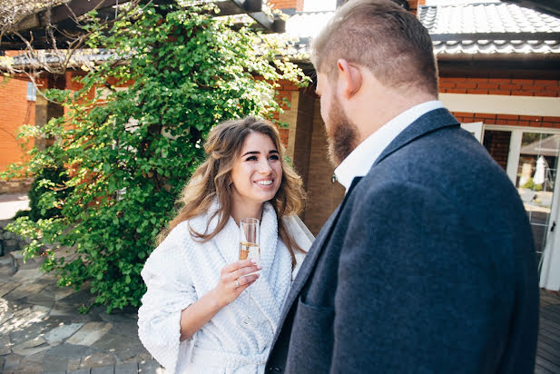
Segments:
[[[381,84],[437,95],[432,41],[415,15],[389,0],[350,0],[313,40],[311,62],[333,74],[337,61],[368,67]]]

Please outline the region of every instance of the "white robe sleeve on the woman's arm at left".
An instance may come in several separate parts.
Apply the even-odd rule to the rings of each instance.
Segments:
[[[184,266],[191,257],[188,243],[179,232],[172,231],[142,270],[148,290],[138,310],[138,336],[153,358],[171,372],[176,370],[180,352],[188,358],[196,339],[194,334],[190,340],[180,341],[181,312],[197,300]]]

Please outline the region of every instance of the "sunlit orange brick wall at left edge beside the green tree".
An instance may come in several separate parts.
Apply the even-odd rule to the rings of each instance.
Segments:
[[[28,82],[24,76],[0,76],[0,172],[10,163],[24,161],[25,152],[15,136],[23,124],[35,123],[35,103],[25,98]]]

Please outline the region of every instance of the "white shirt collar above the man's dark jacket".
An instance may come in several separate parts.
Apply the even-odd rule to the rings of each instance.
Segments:
[[[443,108],[443,103],[432,100],[426,103],[419,103],[416,106],[398,114],[395,118],[381,126],[378,131],[372,133],[368,138],[359,143],[358,147],[352,151],[339,166],[335,169],[335,175],[340,184],[348,189],[355,177],[363,177],[368,174],[369,169],[378,159],[379,155],[387,148],[399,133],[402,133],[409,124],[418,120],[423,114],[434,109]]]

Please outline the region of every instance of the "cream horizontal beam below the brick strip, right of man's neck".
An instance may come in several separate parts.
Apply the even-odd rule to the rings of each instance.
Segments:
[[[439,100],[452,112],[560,117],[560,97],[439,94]]]

